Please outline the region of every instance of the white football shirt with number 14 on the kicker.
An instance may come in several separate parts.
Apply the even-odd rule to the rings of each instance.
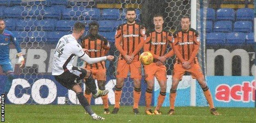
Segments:
[[[52,75],[61,75],[64,69],[69,71],[73,67],[75,56],[82,57],[85,52],[82,50],[80,44],[76,41],[75,37],[71,34],[64,35],[59,39],[55,48],[53,57],[53,71]]]

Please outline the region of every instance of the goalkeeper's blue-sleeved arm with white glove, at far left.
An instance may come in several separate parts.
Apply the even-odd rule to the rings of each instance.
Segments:
[[[17,56],[19,57],[18,59],[18,64],[21,64],[20,67],[22,67],[25,64],[25,59],[23,57],[23,54],[21,52],[21,46],[20,43],[18,43],[18,41],[16,40],[16,37],[12,34],[11,35],[11,41],[13,42],[18,54]]]

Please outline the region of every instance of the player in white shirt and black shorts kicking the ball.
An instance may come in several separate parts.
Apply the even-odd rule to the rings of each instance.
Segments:
[[[55,80],[57,80],[57,82],[62,84],[64,87],[75,91],[80,104],[82,107],[84,107],[85,111],[92,116],[92,119],[104,120],[105,118],[98,116],[93,112],[88,101],[83,95],[82,88],[78,83],[75,82],[75,80],[87,79],[85,84],[91,89],[91,93],[93,94],[94,98],[105,96],[108,93],[108,90],[97,91],[91,71],[75,67],[72,64],[75,56],[78,56],[80,59],[89,64],[101,62],[106,59],[113,60],[114,56],[109,55],[104,57],[90,58],[84,52],[85,49],[82,49],[80,44],[77,42],[84,32],[85,23],[77,22],[74,25],[72,34],[64,35],[59,39],[53,58],[52,75],[54,75]]]

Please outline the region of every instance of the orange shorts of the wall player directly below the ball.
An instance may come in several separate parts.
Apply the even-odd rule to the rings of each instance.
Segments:
[[[154,76],[158,81],[167,81],[165,65],[157,66],[156,63],[144,65],[145,80],[153,80]]]

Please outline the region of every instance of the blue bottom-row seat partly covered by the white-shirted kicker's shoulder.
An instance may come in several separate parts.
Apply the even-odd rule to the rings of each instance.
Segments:
[[[69,34],[68,32],[46,32],[46,38],[48,43],[57,43],[59,39],[66,35]]]

